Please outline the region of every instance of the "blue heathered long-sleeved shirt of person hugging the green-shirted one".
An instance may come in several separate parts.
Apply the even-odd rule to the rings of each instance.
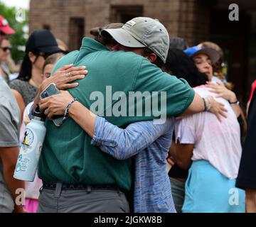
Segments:
[[[175,213],[166,155],[171,145],[174,118],[164,124],[131,123],[122,129],[96,117],[92,145],[118,160],[135,155],[134,212]]]

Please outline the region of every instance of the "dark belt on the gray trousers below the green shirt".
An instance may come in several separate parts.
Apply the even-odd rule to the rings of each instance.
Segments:
[[[56,189],[56,183],[54,182],[43,182],[43,189]],[[102,190],[117,190],[120,192],[124,192],[120,189],[116,184],[62,184],[63,190],[82,190],[82,189],[102,189]]]

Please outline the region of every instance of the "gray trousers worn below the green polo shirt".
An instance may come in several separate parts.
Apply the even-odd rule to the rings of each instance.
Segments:
[[[41,189],[38,213],[129,213],[123,192],[112,189],[55,190]]]

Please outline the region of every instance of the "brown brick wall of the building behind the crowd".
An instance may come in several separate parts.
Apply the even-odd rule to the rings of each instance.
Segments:
[[[197,0],[137,0],[136,4],[132,0],[31,0],[30,33],[49,26],[56,38],[74,49],[78,38],[72,35],[70,18],[84,18],[83,34],[89,35],[90,28],[116,22],[112,9],[117,6],[127,6],[128,14],[134,13],[128,6],[142,6],[143,15],[134,16],[158,18],[170,35],[186,38],[189,45],[208,38],[208,8]]]

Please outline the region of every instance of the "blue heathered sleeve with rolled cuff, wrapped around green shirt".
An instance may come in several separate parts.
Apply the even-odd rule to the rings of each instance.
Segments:
[[[153,121],[140,121],[122,129],[97,116],[91,143],[118,160],[124,160],[144,150],[170,128],[170,121],[167,120],[158,125]]]

